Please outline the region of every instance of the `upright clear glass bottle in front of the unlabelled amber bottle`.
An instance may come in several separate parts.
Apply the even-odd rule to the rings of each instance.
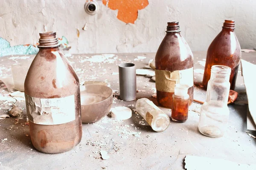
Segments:
[[[205,136],[221,137],[226,130],[230,111],[227,101],[231,68],[213,65],[207,86],[206,102],[201,106],[198,128]]]

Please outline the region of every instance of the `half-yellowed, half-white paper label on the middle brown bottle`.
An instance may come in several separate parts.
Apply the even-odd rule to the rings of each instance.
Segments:
[[[185,70],[156,72],[156,89],[158,91],[174,93],[175,84],[186,84],[189,87],[194,85],[193,67]]]

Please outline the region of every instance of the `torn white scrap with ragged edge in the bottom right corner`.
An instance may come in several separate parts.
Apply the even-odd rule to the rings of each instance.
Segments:
[[[186,170],[256,170],[256,164],[239,164],[224,159],[187,155]]]

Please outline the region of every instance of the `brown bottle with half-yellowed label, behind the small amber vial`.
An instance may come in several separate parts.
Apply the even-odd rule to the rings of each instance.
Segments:
[[[186,40],[180,35],[178,22],[168,23],[166,36],[155,57],[157,102],[172,108],[175,84],[189,85],[189,105],[194,98],[194,58]]]

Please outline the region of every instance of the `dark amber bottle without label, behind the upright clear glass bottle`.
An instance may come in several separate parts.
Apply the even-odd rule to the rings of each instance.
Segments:
[[[211,76],[212,65],[226,65],[231,68],[230,89],[236,86],[236,77],[241,60],[241,47],[235,34],[235,21],[225,20],[222,31],[210,44],[204,68],[203,86],[207,84]]]

